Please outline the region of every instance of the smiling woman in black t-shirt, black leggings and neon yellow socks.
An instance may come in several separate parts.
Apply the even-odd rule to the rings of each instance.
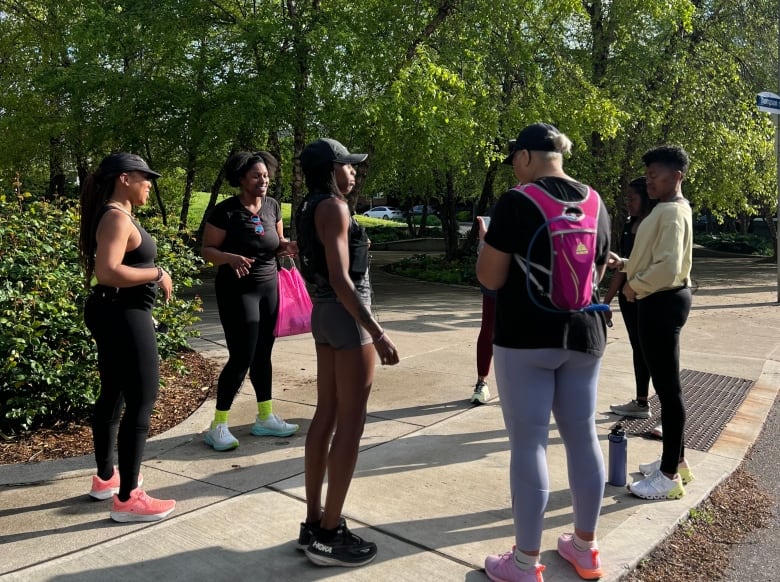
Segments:
[[[217,383],[217,409],[204,440],[217,451],[238,446],[228,428],[233,404],[247,370],[257,397],[255,436],[286,437],[298,430],[273,414],[271,350],[279,308],[276,256],[297,254],[284,238],[279,203],[268,185],[276,159],[267,152],[239,152],[227,161],[225,174],[237,196],[220,202],[203,231],[202,255],[219,266],[214,287],[229,358]]]

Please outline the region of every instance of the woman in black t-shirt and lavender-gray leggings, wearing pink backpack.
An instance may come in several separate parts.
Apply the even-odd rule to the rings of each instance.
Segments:
[[[563,171],[563,154],[570,148],[569,139],[555,127],[538,123],[511,142],[505,163],[512,165],[522,184],[533,182],[558,200],[581,201],[595,192]],[[600,280],[609,255],[610,229],[606,208],[599,204],[594,273]],[[602,575],[596,525],[604,493],[604,459],[595,407],[606,320],[603,312],[551,311],[547,299],[529,296],[514,256],[550,264],[549,237],[543,235],[529,252],[531,238],[544,222],[530,198],[512,189],[499,199],[487,233],[481,229],[485,245],[477,276],[482,285],[498,291],[493,359],[511,448],[515,524],[514,551],[485,560],[492,580],[541,579],[539,553],[550,489],[546,457],[550,412],[566,447],[569,486],[576,500],[574,533],[560,536],[558,552],[582,578]],[[598,302],[595,286],[593,300]],[[540,306],[544,302],[547,309]]]

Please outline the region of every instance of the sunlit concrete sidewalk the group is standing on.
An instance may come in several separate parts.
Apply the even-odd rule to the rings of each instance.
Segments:
[[[396,258],[375,253],[375,264]],[[649,502],[607,485],[599,524],[602,580],[618,580],[741,462],[780,386],[780,310],[776,270],[757,259],[696,258],[700,290],[683,331],[684,368],[755,380],[716,444],[688,456],[696,480],[679,501]],[[513,544],[509,449],[498,400],[471,407],[480,295],[373,271],[375,312],[401,353],[378,368],[369,419],[344,513],[379,556],[358,569],[318,568],[294,549],[305,516],[303,444],[315,405],[310,336],[274,350],[275,411],[301,424],[293,437],[253,437],[247,384],[231,415],[241,446],[217,453],[202,442],[213,414],[207,402],[182,425],[150,439],[144,488],[177,500],[156,524],[116,524],[110,502],[87,497],[91,457],[0,467],[0,580],[487,580],[485,556]],[[213,290],[193,347],[224,360]],[[491,384],[495,394],[495,386]],[[633,395],[631,348],[620,321],[609,332],[597,424],[602,446],[618,417],[609,404]],[[635,470],[660,444],[629,440]],[[560,437],[551,426],[550,503],[542,540],[547,582],[579,580],[555,552],[572,529]],[[632,475],[634,478],[637,474]]]

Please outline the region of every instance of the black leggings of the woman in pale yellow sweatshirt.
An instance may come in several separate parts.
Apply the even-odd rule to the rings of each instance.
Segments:
[[[691,310],[688,287],[659,291],[637,302],[642,354],[661,402],[661,471],[676,473],[685,456],[685,399],[680,384],[680,331]]]

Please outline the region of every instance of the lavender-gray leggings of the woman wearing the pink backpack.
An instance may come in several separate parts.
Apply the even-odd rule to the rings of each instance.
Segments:
[[[550,411],[566,447],[574,526],[595,532],[605,477],[595,424],[601,358],[560,348],[494,346],[494,361],[511,449],[509,484],[517,548],[535,551],[541,546],[550,496]]]

